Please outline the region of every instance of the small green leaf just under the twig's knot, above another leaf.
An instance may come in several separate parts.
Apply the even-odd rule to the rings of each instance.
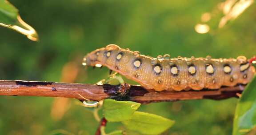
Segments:
[[[105,99],[103,114],[109,122],[119,122],[131,119],[132,114],[140,107],[140,103],[131,101],[116,101]]]

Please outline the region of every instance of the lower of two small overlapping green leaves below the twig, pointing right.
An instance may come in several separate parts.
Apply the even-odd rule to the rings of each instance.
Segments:
[[[138,131],[147,135],[158,135],[172,127],[174,121],[164,117],[136,111],[132,119],[122,122],[129,130]]]

